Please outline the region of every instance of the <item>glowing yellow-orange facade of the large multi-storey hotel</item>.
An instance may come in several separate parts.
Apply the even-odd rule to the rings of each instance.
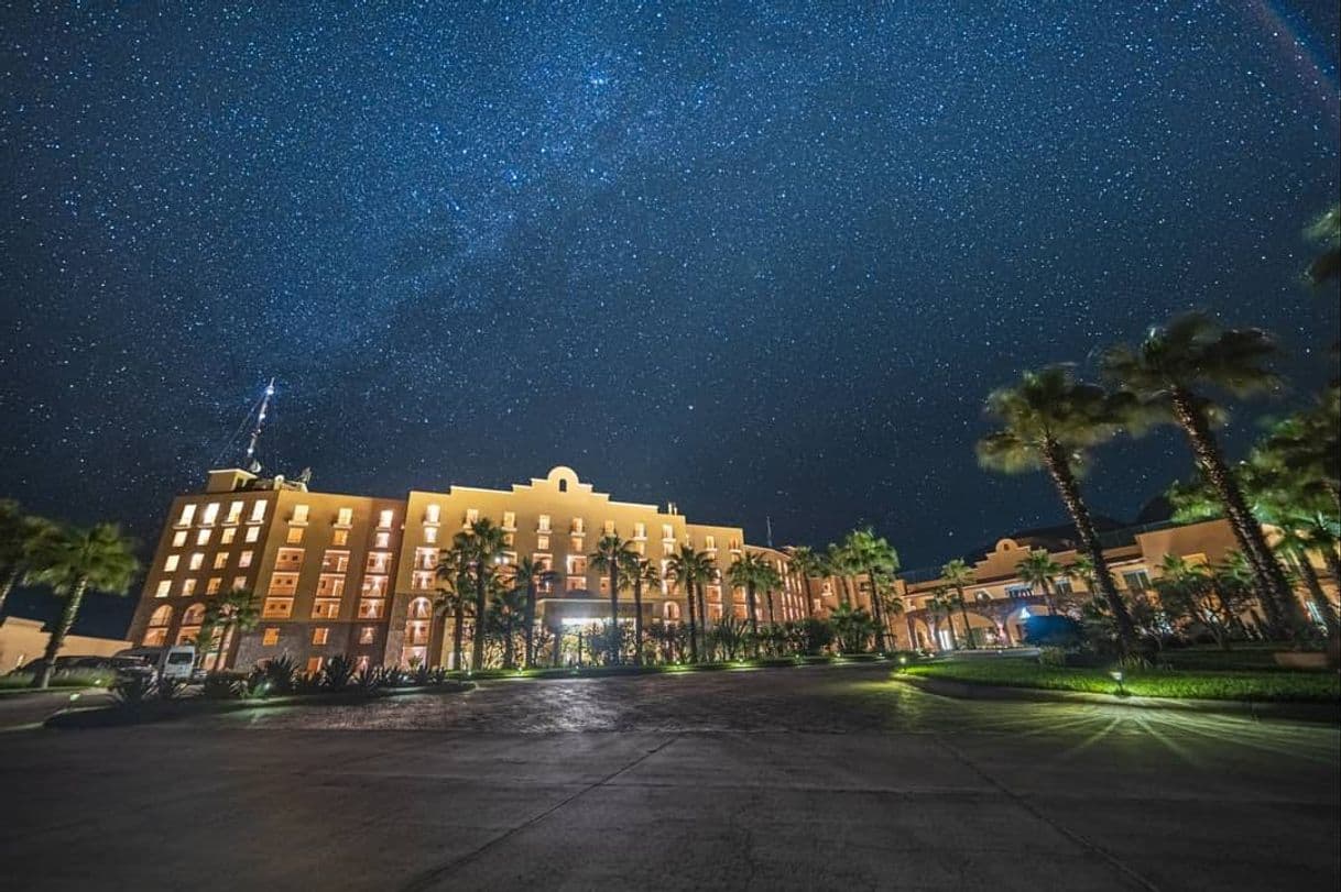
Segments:
[[[539,597],[538,619],[548,628],[609,616],[609,579],[587,560],[606,533],[628,540],[662,576],[681,544],[713,556],[719,571],[759,552],[783,576],[772,596],[775,617],[807,611],[786,554],[747,545],[742,528],[691,524],[673,504],[614,501],[567,467],[510,490],[452,486],[405,498],[315,493],[302,482],[231,469],[212,471],[204,493],[173,501],[130,638],[194,640],[208,599],[241,588],[256,593],[261,619],[223,643],[224,664],[247,667],[280,654],[308,670],[338,654],[373,666],[448,664],[449,620],[433,615],[436,567],[452,537],[481,518],[503,529],[502,575],[522,556],[557,573]],[[744,592],[720,575],[705,597],[709,624],[728,609],[746,616]],[[632,619],[632,592],[620,592],[620,611]],[[766,620],[763,604],[758,611]],[[681,621],[684,593],[662,583],[644,592],[642,612],[645,623]]]

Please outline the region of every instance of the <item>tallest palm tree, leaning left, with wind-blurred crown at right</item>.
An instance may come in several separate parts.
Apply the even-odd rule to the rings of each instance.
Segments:
[[[1147,419],[1183,429],[1198,470],[1215,489],[1239,549],[1257,572],[1262,607],[1281,627],[1290,624],[1290,584],[1216,442],[1214,427],[1224,422],[1224,411],[1199,392],[1211,387],[1250,396],[1277,388],[1281,379],[1266,367],[1275,352],[1261,328],[1226,329],[1203,313],[1185,313],[1151,328],[1136,347],[1110,347],[1102,366],[1112,382],[1140,400]]]

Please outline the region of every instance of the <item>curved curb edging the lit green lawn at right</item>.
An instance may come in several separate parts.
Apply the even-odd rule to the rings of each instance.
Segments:
[[[1124,706],[1128,709],[1179,710],[1247,718],[1275,718],[1298,722],[1341,725],[1341,703],[1293,703],[1252,700],[1192,700],[1173,696],[1117,696],[1085,691],[1051,691],[1041,687],[1008,687],[1004,684],[972,684],[940,678],[917,678],[896,674],[894,680],[920,691],[960,700],[1031,700],[1035,703],[1086,703],[1097,706]]]

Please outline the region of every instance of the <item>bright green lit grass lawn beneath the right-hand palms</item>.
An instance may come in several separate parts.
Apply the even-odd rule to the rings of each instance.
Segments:
[[[1113,694],[1117,682],[1102,668],[1050,668],[1029,659],[964,660],[908,666],[905,675],[970,684],[1037,687],[1051,691]],[[1206,672],[1179,670],[1129,671],[1122,686],[1133,696],[1179,696],[1203,700],[1341,700],[1336,672]]]

